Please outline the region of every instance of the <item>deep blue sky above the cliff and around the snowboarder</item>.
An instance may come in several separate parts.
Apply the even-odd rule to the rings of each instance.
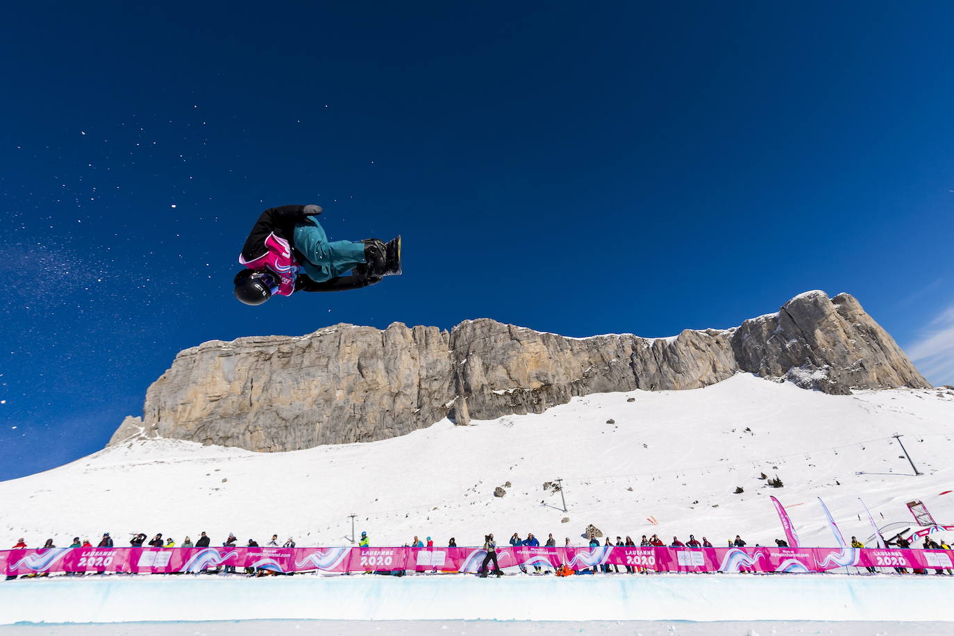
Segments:
[[[818,288],[954,383],[950,3],[58,2],[2,23],[0,479],[102,447],[183,348],[336,322],[667,336]],[[309,202],[334,239],[403,234],[404,276],[240,305],[260,211]]]

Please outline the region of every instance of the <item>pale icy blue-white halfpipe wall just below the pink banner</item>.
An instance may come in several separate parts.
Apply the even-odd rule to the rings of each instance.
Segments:
[[[0,623],[255,620],[954,621],[939,576],[104,576],[0,587]]]

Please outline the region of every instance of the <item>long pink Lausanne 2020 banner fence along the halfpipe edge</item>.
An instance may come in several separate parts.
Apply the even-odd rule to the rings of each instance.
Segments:
[[[477,572],[487,552],[478,547],[53,547],[0,551],[8,577],[59,572],[172,574],[217,568],[277,573],[410,570]],[[656,572],[824,572],[839,567],[954,568],[951,550],[852,547],[499,547],[502,568],[560,564]]]

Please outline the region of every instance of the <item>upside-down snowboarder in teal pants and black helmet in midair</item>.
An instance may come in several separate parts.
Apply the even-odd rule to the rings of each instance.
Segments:
[[[384,243],[329,241],[318,222],[321,207],[282,205],[259,216],[245,240],[235,295],[247,305],[295,292],[339,292],[401,274],[401,236]],[[350,273],[350,276],[344,276]]]

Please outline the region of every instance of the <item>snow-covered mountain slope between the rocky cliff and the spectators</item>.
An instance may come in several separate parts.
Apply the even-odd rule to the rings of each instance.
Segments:
[[[657,532],[771,544],[783,536],[775,495],[804,544],[829,545],[818,496],[842,532],[862,540],[871,532],[858,497],[879,523],[913,524],[904,503],[914,499],[954,523],[954,494],[941,494],[954,489],[952,424],[954,390],[830,396],[740,374],[702,389],[591,395],[541,415],[440,421],[390,440],[286,453],[137,440],[0,483],[0,542],[95,542],[106,531],[117,545],[140,531],[180,542],[205,530],[214,543],[231,531],[241,542],[278,534],[346,544],[355,513],[356,531],[375,545],[414,535],[473,545],[487,532],[506,543],[514,531],[581,544],[588,523],[637,542]],[[569,512],[544,489],[555,478]],[[506,496],[494,497],[496,486]]]

